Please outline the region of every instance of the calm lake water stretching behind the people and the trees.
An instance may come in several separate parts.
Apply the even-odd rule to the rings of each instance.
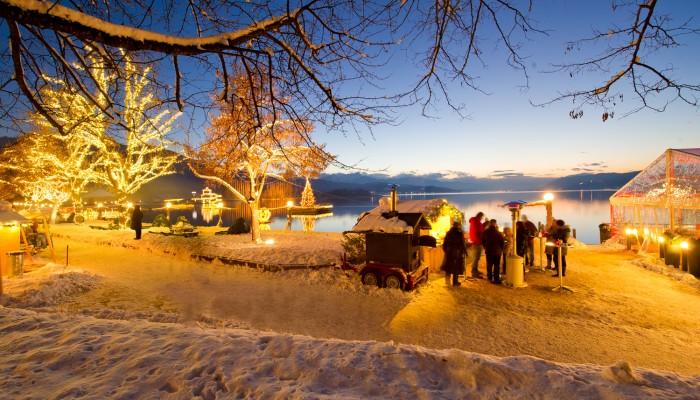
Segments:
[[[552,192],[552,214],[554,218],[563,219],[572,229],[576,230],[576,238],[587,244],[600,243],[600,230],[598,225],[603,222],[610,222],[609,198],[615,193],[614,190],[576,190]],[[399,194],[399,201],[422,200],[444,198],[459,210],[465,213],[468,220],[477,212],[482,211],[489,219],[495,218],[502,227],[511,225],[511,213],[506,208],[499,207],[501,204],[514,200],[534,202],[542,200],[544,192],[490,192],[490,193],[444,193],[444,194]],[[316,219],[302,220],[302,218],[292,218],[291,229],[294,231],[304,230],[304,224],[313,225],[315,232],[343,232],[352,229],[357,222],[357,218],[364,211],[368,211],[377,206],[381,196],[339,199],[333,201],[333,213],[330,216],[323,216]],[[297,201],[298,203],[298,201]],[[195,225],[216,225],[218,219],[222,218],[222,225],[230,226],[239,216],[246,216],[247,205],[240,201],[224,200],[225,209],[222,215],[218,215],[218,210],[203,210],[199,205],[194,209],[171,210],[171,220],[174,222],[179,215],[184,215]],[[287,227],[286,208],[281,205],[274,207],[270,204],[265,206],[272,209],[272,218],[269,228],[282,230]],[[213,211],[213,212],[212,212]],[[149,221],[157,213],[163,210],[151,210],[145,212],[145,221]],[[546,211],[544,206],[524,207],[521,214],[528,216],[530,221],[537,224],[545,223]],[[249,217],[248,217],[249,219]],[[223,228],[222,228],[223,229]]]

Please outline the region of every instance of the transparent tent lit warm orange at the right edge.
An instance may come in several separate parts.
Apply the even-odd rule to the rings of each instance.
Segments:
[[[670,229],[693,235],[700,226],[700,148],[668,149],[610,197],[613,229]]]

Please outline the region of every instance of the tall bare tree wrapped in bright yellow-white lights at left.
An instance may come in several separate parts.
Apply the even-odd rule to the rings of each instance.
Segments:
[[[72,159],[65,167],[85,171],[78,189],[87,182],[100,183],[123,204],[143,184],[174,172],[171,167],[178,156],[168,149],[174,146],[168,134],[179,113],[157,111],[160,101],[149,88],[151,69],[141,67],[125,52],[120,55],[123,66],[117,71],[110,71],[100,57],[83,60],[77,70],[95,82],[88,94],[68,82],[47,78],[51,86],[42,89],[41,97],[50,118],[70,132],[65,142]],[[115,119],[103,110],[116,99],[121,107]],[[33,117],[37,124],[57,132],[44,113]],[[79,196],[73,198],[79,208]]]

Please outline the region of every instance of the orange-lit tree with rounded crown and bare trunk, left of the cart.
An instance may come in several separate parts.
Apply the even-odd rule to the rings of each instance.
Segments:
[[[233,75],[231,98],[217,102],[219,114],[204,142],[189,150],[195,175],[219,183],[250,205],[254,241],[260,238],[258,207],[267,179],[316,176],[333,160],[323,145],[309,142],[310,123],[284,118],[274,107],[266,90],[270,84],[265,75],[251,79],[242,70]],[[232,185],[238,179],[249,184],[249,193]]]

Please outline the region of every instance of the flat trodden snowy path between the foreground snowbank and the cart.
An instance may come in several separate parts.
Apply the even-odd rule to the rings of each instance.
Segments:
[[[445,287],[434,274],[414,294],[364,287],[330,269],[269,273],[65,239],[57,239],[57,248],[67,243],[71,267],[106,278],[100,288],[61,306],[72,312],[206,320],[559,362],[627,360],[700,374],[698,286],[633,265],[637,257],[625,251],[571,251],[565,283],[573,295],[553,293],[558,280],[536,272],[528,274],[528,288],[515,290],[485,281]],[[275,252],[283,257],[285,249]]]

